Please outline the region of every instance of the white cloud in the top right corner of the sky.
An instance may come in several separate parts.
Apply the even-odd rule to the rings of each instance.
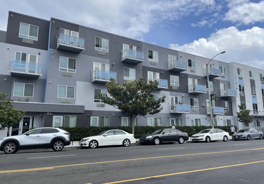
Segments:
[[[248,2],[247,0],[228,2],[230,9],[225,13],[224,20],[238,23],[238,25],[264,21],[264,1],[258,3]]]

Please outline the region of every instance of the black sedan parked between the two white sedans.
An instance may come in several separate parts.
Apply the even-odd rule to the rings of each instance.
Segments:
[[[176,142],[183,144],[184,141],[189,140],[188,134],[186,132],[181,132],[177,129],[160,129],[156,130],[150,135],[145,135],[140,137],[140,143],[153,143],[159,145],[161,142]]]

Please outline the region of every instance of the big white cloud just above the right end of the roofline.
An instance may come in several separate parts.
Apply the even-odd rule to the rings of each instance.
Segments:
[[[239,31],[236,27],[219,29],[209,38],[200,38],[183,45],[170,44],[170,48],[224,62],[237,62],[264,69],[264,28],[252,27]]]

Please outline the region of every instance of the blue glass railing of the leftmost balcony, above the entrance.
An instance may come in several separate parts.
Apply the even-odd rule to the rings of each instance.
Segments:
[[[12,60],[11,71],[23,71],[31,73],[40,73],[41,64],[40,63],[31,63],[25,61]]]

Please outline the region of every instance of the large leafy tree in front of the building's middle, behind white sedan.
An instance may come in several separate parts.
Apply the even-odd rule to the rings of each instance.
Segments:
[[[136,116],[154,115],[163,109],[161,103],[165,102],[166,96],[158,98],[157,100],[150,97],[151,93],[157,89],[157,81],[149,81],[147,83],[143,81],[143,78],[140,78],[139,81],[124,82],[123,86],[119,86],[112,78],[110,81],[106,83],[110,96],[101,93],[99,96],[104,103],[126,112],[126,115],[132,118],[133,134]]]

